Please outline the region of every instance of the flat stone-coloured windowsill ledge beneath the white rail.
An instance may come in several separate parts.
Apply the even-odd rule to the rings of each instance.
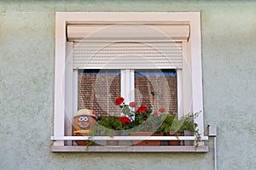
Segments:
[[[52,146],[52,152],[200,152],[206,153],[207,145],[195,146]]]

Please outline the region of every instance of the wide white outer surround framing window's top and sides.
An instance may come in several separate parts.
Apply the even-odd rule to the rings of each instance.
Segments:
[[[203,95],[202,95],[202,73],[201,73],[201,13],[200,12],[129,12],[129,13],[117,13],[117,12],[56,12],[55,13],[55,119],[54,119],[54,146],[64,146],[65,138],[65,95],[69,92],[67,89],[73,89],[72,83],[67,83],[65,80],[65,67],[67,66],[66,56],[68,49],[67,42],[67,24],[84,24],[84,23],[108,23],[116,24],[122,22],[132,22],[138,24],[147,24],[150,22],[166,22],[166,23],[189,23],[190,35],[189,42],[183,43],[189,47],[189,51],[185,51],[184,56],[189,56],[191,75],[188,80],[191,83],[191,89],[188,89],[186,83],[183,83],[183,87],[177,84],[178,96],[191,93],[192,104],[191,112],[201,111],[200,115],[195,118],[195,122],[198,124],[199,133],[201,133],[201,139],[207,140],[207,136],[204,136],[204,121],[203,121]],[[183,62],[187,62],[187,59],[183,59]],[[74,75],[77,73],[74,73]],[[177,75],[183,81],[188,79],[177,70]],[[182,76],[183,75],[183,76]],[[73,77],[74,81],[77,81],[76,76]],[[123,81],[123,80],[122,80]],[[187,91],[186,91],[187,90]],[[126,94],[124,94],[126,95]],[[125,96],[124,96],[125,97]],[[186,104],[186,99],[178,98],[179,103]],[[179,109],[179,112],[183,112],[183,108]],[[184,111],[185,112],[185,111]],[[206,151],[204,148],[203,150]]]

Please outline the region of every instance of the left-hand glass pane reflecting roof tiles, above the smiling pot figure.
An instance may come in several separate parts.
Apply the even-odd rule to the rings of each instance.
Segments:
[[[119,96],[119,70],[79,70],[79,110],[90,109],[100,115],[118,114],[115,99]]]

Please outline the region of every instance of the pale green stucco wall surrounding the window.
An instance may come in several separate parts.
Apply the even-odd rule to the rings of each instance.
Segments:
[[[206,154],[52,153],[55,11],[201,11],[218,169],[256,168],[255,1],[70,0],[0,2],[0,169],[213,169],[212,139]]]

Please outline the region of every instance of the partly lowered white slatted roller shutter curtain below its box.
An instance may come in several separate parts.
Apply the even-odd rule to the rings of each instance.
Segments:
[[[74,69],[182,68],[182,42],[75,42]]]

